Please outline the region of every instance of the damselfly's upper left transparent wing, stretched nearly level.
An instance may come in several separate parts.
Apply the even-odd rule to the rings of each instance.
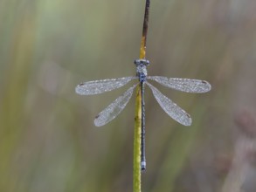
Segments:
[[[75,92],[81,95],[92,95],[92,94],[109,92],[121,86],[126,85],[132,79],[137,79],[137,78],[125,77],[125,78],[118,78],[118,79],[102,79],[102,80],[87,81],[84,83],[80,83],[80,85],[76,86]]]

